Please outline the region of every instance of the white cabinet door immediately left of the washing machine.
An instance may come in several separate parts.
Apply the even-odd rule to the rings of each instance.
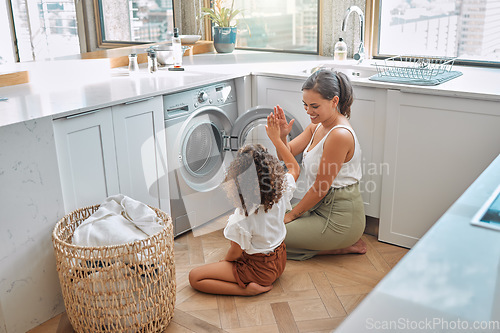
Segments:
[[[112,110],[122,193],[170,213],[162,98],[120,104]]]

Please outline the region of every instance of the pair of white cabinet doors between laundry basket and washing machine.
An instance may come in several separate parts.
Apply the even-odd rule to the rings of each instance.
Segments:
[[[170,212],[161,97],[54,120],[66,212],[122,193]]]

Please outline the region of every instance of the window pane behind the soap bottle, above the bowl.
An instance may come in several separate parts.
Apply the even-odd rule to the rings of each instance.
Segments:
[[[174,31],[172,0],[95,1],[100,46],[161,42]]]

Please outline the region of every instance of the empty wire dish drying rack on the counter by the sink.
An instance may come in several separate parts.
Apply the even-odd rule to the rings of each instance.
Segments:
[[[384,64],[375,64],[379,76],[391,76],[407,79],[431,80],[438,74],[450,72],[455,58],[395,56],[384,60]]]

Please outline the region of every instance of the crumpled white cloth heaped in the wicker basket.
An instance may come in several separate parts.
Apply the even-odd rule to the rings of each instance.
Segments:
[[[156,212],[123,194],[108,197],[99,209],[78,226],[73,244],[120,245],[145,239],[164,228]]]

